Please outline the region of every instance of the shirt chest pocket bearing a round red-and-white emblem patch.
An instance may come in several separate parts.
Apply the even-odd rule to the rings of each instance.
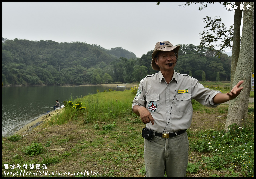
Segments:
[[[147,101],[147,109],[151,113],[157,113],[160,111],[160,95],[159,94],[149,94],[146,95],[146,101]]]

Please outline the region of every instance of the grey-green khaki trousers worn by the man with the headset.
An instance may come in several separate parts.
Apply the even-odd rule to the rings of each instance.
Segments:
[[[156,142],[151,142],[156,141]],[[188,166],[188,135],[176,137],[153,136],[144,140],[144,160],[147,177],[185,177]]]

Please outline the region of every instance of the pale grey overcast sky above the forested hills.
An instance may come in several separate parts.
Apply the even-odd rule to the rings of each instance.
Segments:
[[[221,4],[201,11],[201,5],[179,7],[183,4],[2,2],[2,37],[122,47],[140,58],[159,41],[198,46],[206,16],[222,18],[227,27],[234,24],[234,11]]]

